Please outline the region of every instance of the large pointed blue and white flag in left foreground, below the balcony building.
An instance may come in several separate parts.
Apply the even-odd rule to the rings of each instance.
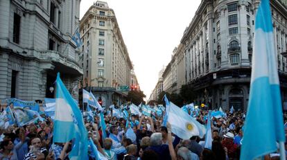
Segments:
[[[87,130],[82,120],[82,114],[69,91],[60,79],[56,80],[55,121],[53,143],[66,143],[73,139],[70,159],[88,159]]]

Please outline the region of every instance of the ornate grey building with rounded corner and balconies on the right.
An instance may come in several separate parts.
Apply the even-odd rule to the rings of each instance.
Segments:
[[[183,54],[173,58],[175,62],[171,64],[175,68],[171,70],[177,70],[173,78],[180,85],[184,84],[180,71],[180,57],[184,56],[185,84],[191,85],[197,93],[195,103],[205,103],[214,108],[234,106],[235,109],[247,109],[254,17],[259,2],[202,0],[200,3],[180,41]],[[281,53],[287,49],[287,6],[279,0],[271,0],[270,4],[281,96],[285,102],[286,57]]]

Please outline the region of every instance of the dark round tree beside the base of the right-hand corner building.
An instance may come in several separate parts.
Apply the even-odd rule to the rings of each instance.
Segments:
[[[184,103],[192,103],[196,98],[196,92],[193,91],[193,87],[191,87],[191,85],[182,85],[180,96]]]

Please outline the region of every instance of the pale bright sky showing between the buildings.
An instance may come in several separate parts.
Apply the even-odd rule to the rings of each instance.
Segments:
[[[115,12],[141,91],[150,97],[201,0],[102,0]],[[80,19],[94,0],[82,0]]]

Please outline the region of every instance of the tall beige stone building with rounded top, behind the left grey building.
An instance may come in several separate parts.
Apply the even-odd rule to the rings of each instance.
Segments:
[[[80,20],[81,57],[84,87],[91,90],[104,106],[121,105],[131,84],[132,62],[128,55],[114,10],[96,1]]]

